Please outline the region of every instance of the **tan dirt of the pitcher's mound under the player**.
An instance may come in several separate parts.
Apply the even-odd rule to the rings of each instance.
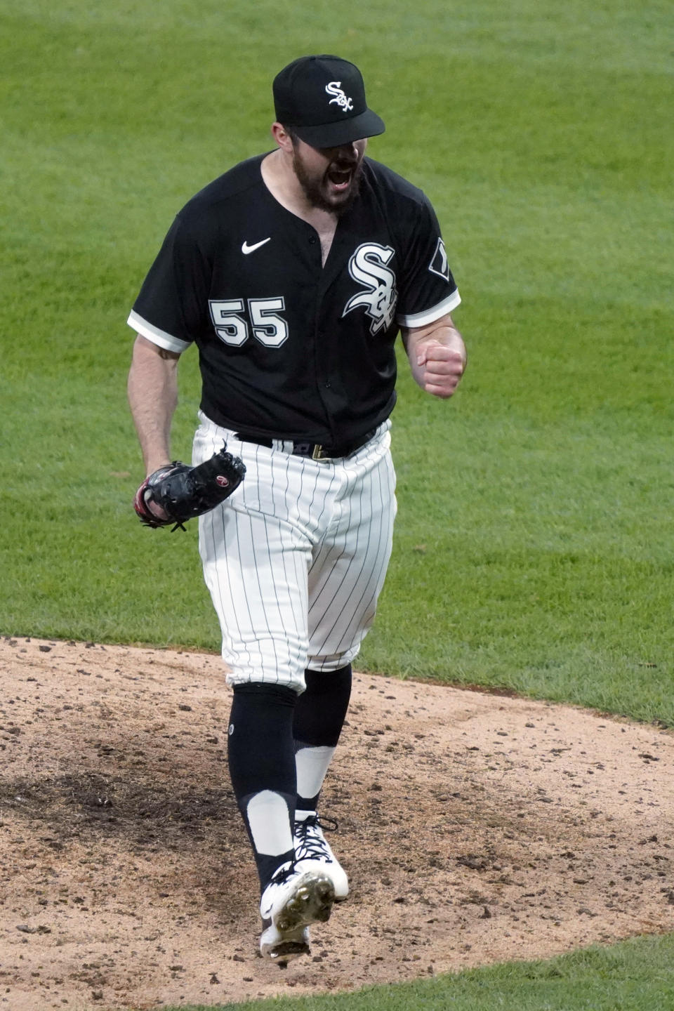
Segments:
[[[674,930],[674,735],[355,677],[323,792],[352,895],[257,954],[219,657],[0,641],[0,1008],[355,989]]]

